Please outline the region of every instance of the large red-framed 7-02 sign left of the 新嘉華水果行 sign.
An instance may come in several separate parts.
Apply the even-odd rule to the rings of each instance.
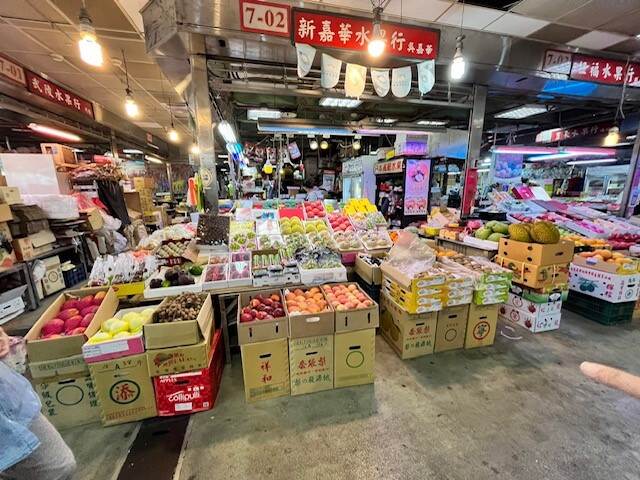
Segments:
[[[289,5],[240,0],[240,28],[245,32],[289,36]]]

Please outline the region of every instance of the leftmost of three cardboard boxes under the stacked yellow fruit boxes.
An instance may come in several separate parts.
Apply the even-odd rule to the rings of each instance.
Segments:
[[[382,336],[403,360],[433,353],[438,314],[410,314],[388,295],[380,297]]]

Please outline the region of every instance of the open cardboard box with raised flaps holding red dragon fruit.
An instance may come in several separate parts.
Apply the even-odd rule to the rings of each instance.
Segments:
[[[39,340],[40,330],[44,324],[56,318],[62,304],[71,298],[76,298],[73,291],[65,292],[56,298],[25,336],[29,362],[44,362],[82,354],[82,346],[86,343],[87,338],[100,330],[102,322],[111,318],[118,308],[118,297],[112,289],[109,289],[84,335]]]

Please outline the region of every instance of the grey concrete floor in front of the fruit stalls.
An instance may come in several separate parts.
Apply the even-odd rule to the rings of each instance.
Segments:
[[[254,405],[236,355],[215,408],[189,419],[166,478],[638,479],[640,401],[578,365],[640,373],[640,330],[564,311],[559,331],[516,333],[521,340],[408,361],[378,336],[375,385]],[[64,432],[76,478],[117,478],[136,428]]]

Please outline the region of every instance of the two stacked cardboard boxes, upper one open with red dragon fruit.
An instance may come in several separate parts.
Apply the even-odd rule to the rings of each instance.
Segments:
[[[43,340],[40,332],[49,320],[56,318],[65,301],[84,293],[79,290],[60,295],[25,337],[29,371],[40,396],[42,413],[61,429],[92,423],[100,418],[96,385],[82,356],[82,345],[87,336]],[[115,292],[109,289],[87,327],[86,335],[98,331],[100,324],[113,315],[117,305]]]

